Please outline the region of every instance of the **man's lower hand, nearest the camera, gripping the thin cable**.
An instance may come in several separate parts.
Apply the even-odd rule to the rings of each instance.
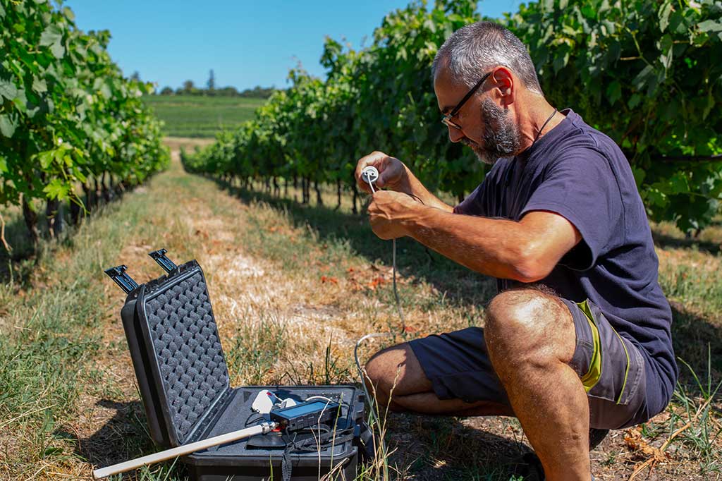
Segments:
[[[384,241],[406,235],[404,221],[413,217],[422,204],[411,196],[393,191],[376,191],[368,206],[373,233]]]

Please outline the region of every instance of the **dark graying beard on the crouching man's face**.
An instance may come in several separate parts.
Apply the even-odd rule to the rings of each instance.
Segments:
[[[491,99],[484,99],[481,108],[484,123],[484,147],[464,138],[461,142],[471,147],[479,160],[494,165],[501,157],[512,157],[521,147],[521,134],[509,117],[508,110],[497,107]]]

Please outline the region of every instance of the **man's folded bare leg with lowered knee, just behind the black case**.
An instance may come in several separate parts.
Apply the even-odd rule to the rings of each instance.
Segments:
[[[427,415],[487,416],[509,415],[508,406],[495,402],[464,402],[439,399],[431,381],[408,344],[378,352],[366,365],[367,388],[375,393],[380,410],[411,411]],[[389,399],[391,397],[391,399]]]

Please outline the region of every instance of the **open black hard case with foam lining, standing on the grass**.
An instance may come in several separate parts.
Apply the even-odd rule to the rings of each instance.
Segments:
[[[206,280],[196,261],[131,290],[121,318],[150,435],[161,446],[180,446],[257,424],[260,415],[251,411],[251,403],[260,389],[300,401],[319,395],[341,399],[336,430],[360,432],[364,399],[354,386],[230,387]],[[293,452],[291,479],[317,480],[319,458],[321,476],[333,462],[333,479],[354,479],[356,441],[321,449],[320,456],[318,451]],[[283,451],[253,449],[243,440],[182,460],[197,481],[281,480]]]

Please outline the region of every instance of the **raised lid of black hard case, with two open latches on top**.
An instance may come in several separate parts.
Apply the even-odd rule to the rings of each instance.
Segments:
[[[164,249],[151,256],[167,275],[137,285],[124,266],[106,272],[131,289],[121,316],[152,438],[175,447],[217,415],[230,379],[201,267],[175,266]]]

